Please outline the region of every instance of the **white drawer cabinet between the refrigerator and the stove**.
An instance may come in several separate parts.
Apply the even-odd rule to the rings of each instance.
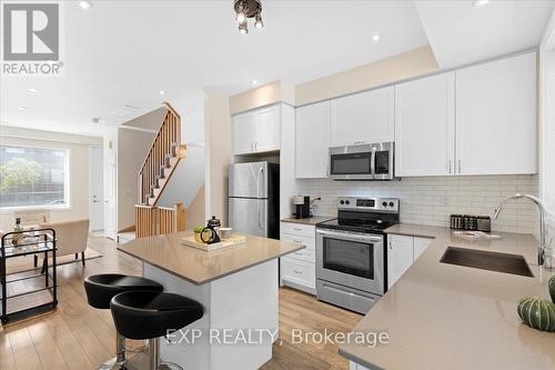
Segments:
[[[280,282],[315,294],[316,228],[311,224],[282,222],[280,239],[305,247],[280,259]]]

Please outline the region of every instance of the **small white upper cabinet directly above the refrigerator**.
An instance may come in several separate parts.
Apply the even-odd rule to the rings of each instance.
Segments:
[[[233,154],[280,150],[280,104],[233,116]]]

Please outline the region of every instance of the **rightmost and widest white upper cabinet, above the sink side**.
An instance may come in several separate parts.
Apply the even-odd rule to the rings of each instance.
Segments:
[[[462,174],[536,172],[536,53],[456,71]]]

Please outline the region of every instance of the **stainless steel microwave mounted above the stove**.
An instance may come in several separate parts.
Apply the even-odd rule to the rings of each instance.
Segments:
[[[392,180],[394,142],[330,148],[330,178],[334,180]]]

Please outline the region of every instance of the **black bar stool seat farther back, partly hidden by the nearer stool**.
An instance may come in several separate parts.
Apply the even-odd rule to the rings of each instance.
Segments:
[[[89,304],[97,309],[109,309],[113,297],[131,290],[163,291],[158,282],[121,273],[100,273],[84,279]]]

